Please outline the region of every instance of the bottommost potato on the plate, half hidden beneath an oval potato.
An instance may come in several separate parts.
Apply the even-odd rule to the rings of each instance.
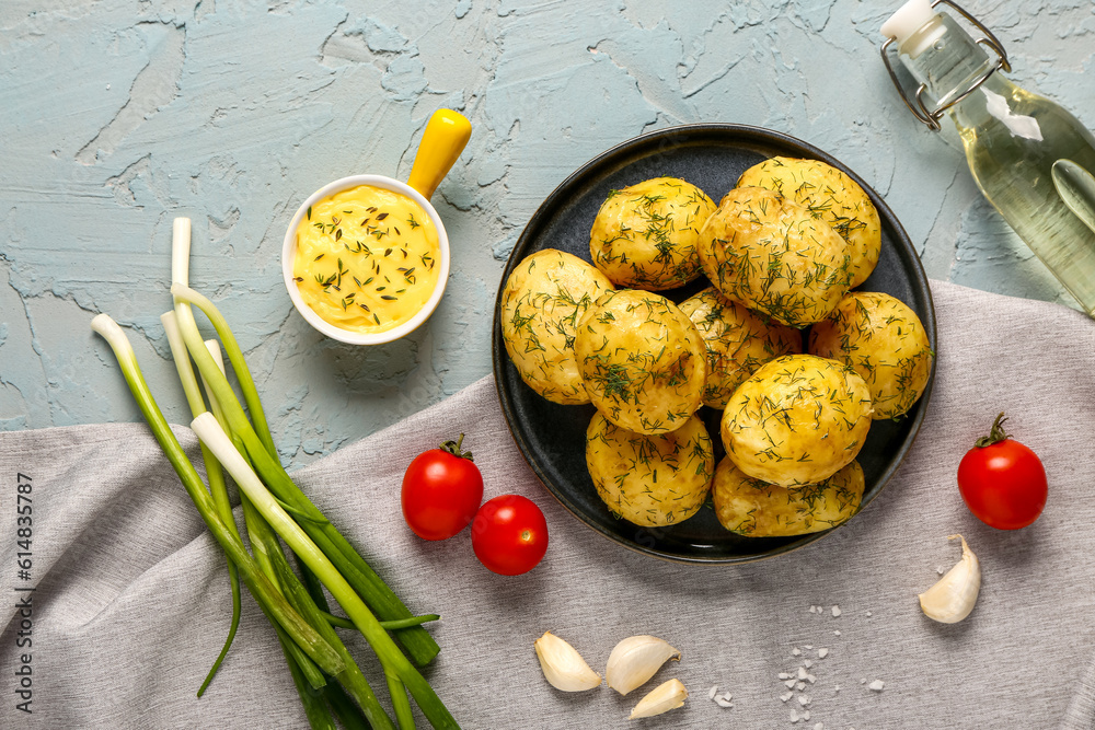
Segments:
[[[718,522],[739,535],[786,537],[835,528],[860,510],[863,468],[853,461],[825,482],[788,489],[746,476],[729,459],[715,468]]]

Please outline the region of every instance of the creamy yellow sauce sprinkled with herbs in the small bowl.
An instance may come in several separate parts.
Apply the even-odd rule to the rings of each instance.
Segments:
[[[437,230],[399,193],[359,185],[323,198],[297,228],[293,278],[324,321],[379,333],[412,318],[437,287]]]

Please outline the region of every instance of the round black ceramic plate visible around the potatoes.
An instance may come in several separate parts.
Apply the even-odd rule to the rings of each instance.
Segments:
[[[585,433],[593,407],[557,405],[525,384],[509,361],[502,340],[502,288],[522,258],[542,248],[561,248],[590,260],[589,229],[610,190],[650,177],[680,177],[698,185],[717,202],[734,187],[746,169],[775,155],[822,160],[843,170],[863,186],[878,208],[883,245],[877,268],[858,289],[883,291],[911,306],[924,323],[932,347],[935,347],[932,294],[909,236],[874,190],[821,150],[768,129],[704,124],[643,135],[593,159],[544,200],[510,254],[495,304],[494,373],[503,413],[532,471],[575,517],[626,547],[684,563],[747,563],[786,553],[832,530],[802,537],[742,537],[718,524],[710,500],[691,519],[668,528],[641,528],[612,517],[597,496],[586,471]],[[706,281],[700,281],[664,293],[681,301],[705,286]],[[858,455],[866,476],[864,506],[878,496],[912,444],[924,419],[931,389],[932,382],[929,382],[923,397],[903,419],[872,424]],[[718,459],[723,456],[718,443],[721,413],[710,408],[701,410],[716,444]]]

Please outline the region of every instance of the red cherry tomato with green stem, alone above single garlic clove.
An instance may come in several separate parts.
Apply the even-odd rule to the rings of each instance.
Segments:
[[[1041,460],[1004,433],[1004,414],[989,436],[958,464],[958,490],[981,522],[999,530],[1025,528],[1046,507],[1048,486]]]

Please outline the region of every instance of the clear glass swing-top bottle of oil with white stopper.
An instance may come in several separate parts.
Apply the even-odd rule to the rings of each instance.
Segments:
[[[973,39],[946,3],[986,33]],[[1019,237],[1095,316],[1095,137],[1069,112],[1001,73],[1007,57],[991,32],[949,0],[910,0],[884,25],[920,84],[913,114],[940,129],[954,121],[973,179]],[[989,53],[992,51],[992,56]],[[894,69],[890,74],[899,91]],[[934,108],[933,108],[934,107]]]

